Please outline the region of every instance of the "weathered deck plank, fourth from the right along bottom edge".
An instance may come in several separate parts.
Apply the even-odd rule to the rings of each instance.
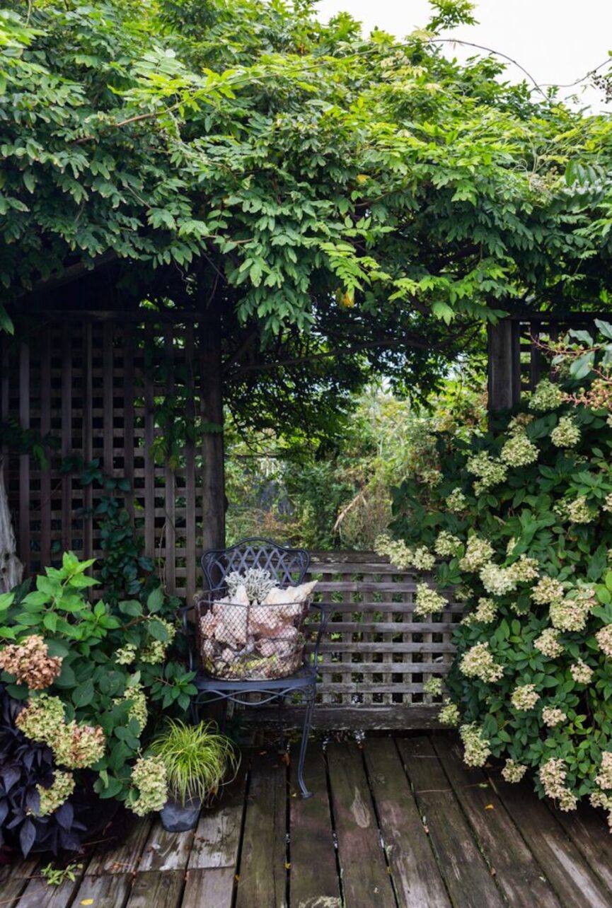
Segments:
[[[448,908],[449,895],[400,755],[385,738],[366,740],[363,750],[380,831],[402,908]]]

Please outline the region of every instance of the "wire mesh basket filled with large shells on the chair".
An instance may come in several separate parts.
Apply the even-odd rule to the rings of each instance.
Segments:
[[[301,667],[310,600],[232,602],[207,593],[195,605],[202,670],[224,680],[259,681]]]

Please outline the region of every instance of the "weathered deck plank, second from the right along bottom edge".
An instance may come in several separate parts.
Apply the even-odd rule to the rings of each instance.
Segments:
[[[479,769],[470,769],[461,757],[459,742],[432,738],[450,785],[467,816],[495,879],[512,908],[559,908],[546,875],[523,841],[500,798]],[[485,785],[486,787],[482,787]]]

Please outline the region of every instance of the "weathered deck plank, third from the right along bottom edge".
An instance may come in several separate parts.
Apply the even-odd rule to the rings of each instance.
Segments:
[[[504,900],[429,738],[400,739],[398,745],[452,903],[460,908],[503,908]]]

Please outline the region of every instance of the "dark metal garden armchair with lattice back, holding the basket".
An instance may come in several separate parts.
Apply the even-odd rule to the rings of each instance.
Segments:
[[[268,570],[272,579],[281,587],[299,585],[306,576],[310,561],[311,558],[308,552],[303,548],[285,548],[271,542],[269,539],[247,538],[242,539],[241,542],[231,548],[210,549],[204,552],[202,555],[202,571],[210,595],[211,593],[222,593],[225,578],[233,571],[243,574],[247,568]],[[193,606],[183,609],[183,621],[185,631],[191,641],[190,666],[192,670],[195,670],[199,666],[199,659],[194,652],[192,627],[190,628],[186,614],[192,608]],[[301,730],[297,778],[301,796],[304,798],[311,797],[312,794],[304,782],[304,758],[311,730],[312,710],[316,699],[319,646],[329,617],[329,604],[321,602],[311,603],[310,608],[311,612],[319,613],[321,616],[319,627],[314,646],[311,651],[307,651],[303,665],[294,674],[275,679],[225,680],[208,676],[202,670],[198,670],[198,674],[193,681],[193,684],[198,689],[198,695],[194,701],[196,716],[199,715],[200,708],[204,703],[223,701],[225,704],[236,703],[242,706],[263,706],[264,704],[276,702],[279,707],[281,743],[284,740],[282,706],[285,698],[293,695],[301,696],[304,705],[304,720]],[[252,694],[259,695],[259,699],[254,703],[252,702]]]

